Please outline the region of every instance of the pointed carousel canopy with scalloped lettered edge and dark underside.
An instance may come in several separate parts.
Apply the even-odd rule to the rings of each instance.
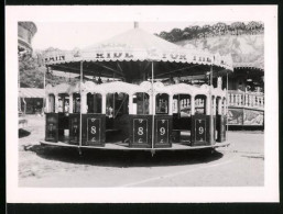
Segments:
[[[110,40],[72,52],[55,50],[45,56],[54,70],[78,74],[84,61],[84,75],[120,77],[126,80],[154,77],[199,75],[214,70],[232,70],[231,57],[203,50],[188,50],[137,27]]]

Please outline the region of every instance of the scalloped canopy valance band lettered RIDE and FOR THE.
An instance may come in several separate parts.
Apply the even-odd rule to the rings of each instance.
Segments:
[[[214,60],[215,58],[215,60]],[[228,57],[229,58],[229,57]],[[44,57],[45,64],[57,64],[66,61],[79,61],[79,60],[162,60],[162,61],[183,61],[183,63],[199,63],[211,65],[214,61],[217,66],[222,66],[227,68],[232,68],[231,59],[221,56],[213,56],[210,54],[192,54],[191,52],[161,52],[159,49],[149,48],[132,48],[132,47],[121,47],[119,50],[113,50],[113,47],[99,47],[94,48],[91,52],[87,50],[73,50],[73,52],[54,52],[48,53]]]

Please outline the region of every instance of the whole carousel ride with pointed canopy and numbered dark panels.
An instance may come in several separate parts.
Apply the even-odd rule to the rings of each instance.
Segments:
[[[135,24],[86,49],[51,53],[45,63],[80,80],[45,87],[42,144],[149,150],[228,144],[221,77],[232,71],[230,57],[192,53]],[[196,85],[193,77],[199,75],[208,75],[210,83]],[[181,77],[192,79],[179,82]]]

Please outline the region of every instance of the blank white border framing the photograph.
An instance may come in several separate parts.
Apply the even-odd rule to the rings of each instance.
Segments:
[[[20,188],[18,185],[18,21],[264,22],[264,187]],[[18,5],[6,7],[8,203],[279,202],[276,5]]]

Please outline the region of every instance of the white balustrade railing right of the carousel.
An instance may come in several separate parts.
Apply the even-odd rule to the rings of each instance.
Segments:
[[[228,106],[264,110],[264,93],[229,90]]]

